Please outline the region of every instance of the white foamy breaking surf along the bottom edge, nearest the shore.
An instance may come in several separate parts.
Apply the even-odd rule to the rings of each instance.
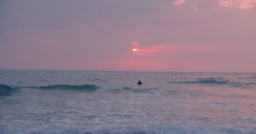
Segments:
[[[0,134],[256,134],[256,131],[253,129],[240,130],[175,121],[170,125],[159,125],[146,129],[134,127],[125,128],[125,126],[123,126],[121,129],[102,127],[100,130],[92,128],[66,128],[53,125],[33,127],[32,125],[0,124]]]

